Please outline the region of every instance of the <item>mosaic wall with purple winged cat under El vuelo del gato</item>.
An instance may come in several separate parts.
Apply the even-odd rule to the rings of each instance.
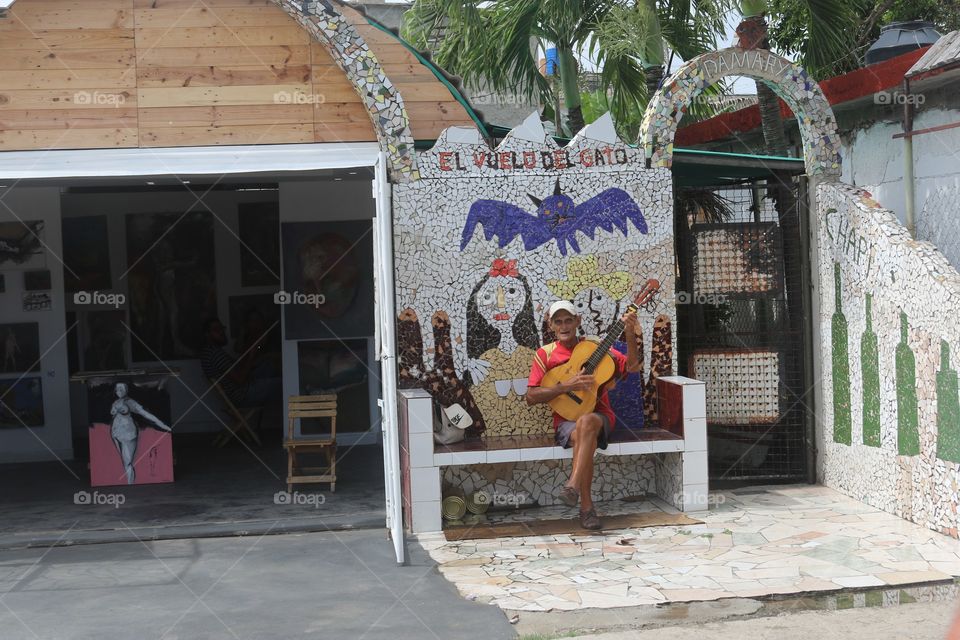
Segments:
[[[553,339],[546,308],[572,300],[602,337],[655,278],[639,313],[643,370],[612,400],[620,426],[654,418],[651,380],[675,366],[672,187],[642,163],[609,118],[560,148],[536,114],[496,149],[455,127],[419,154],[421,179],[393,192],[400,386],[461,404],[474,434],[550,433],[549,408],[524,399]]]

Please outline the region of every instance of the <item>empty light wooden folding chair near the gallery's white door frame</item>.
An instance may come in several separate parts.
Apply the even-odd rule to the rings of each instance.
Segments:
[[[297,438],[296,421],[301,418],[329,418],[330,435]],[[287,450],[287,491],[293,492],[294,484],[329,482],[331,493],[337,487],[337,396],[291,396],[287,405],[287,438],[283,443]],[[307,467],[297,456],[322,454],[327,464]]]

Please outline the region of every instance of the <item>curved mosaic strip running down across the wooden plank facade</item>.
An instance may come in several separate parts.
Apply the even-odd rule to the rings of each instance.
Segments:
[[[410,117],[403,98],[356,28],[329,0],[273,0],[322,44],[367,107],[397,182],[416,180]]]

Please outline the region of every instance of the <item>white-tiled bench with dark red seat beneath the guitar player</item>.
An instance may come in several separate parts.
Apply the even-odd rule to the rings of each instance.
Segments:
[[[682,376],[657,380],[660,425],[639,430],[615,429],[601,456],[679,454],[679,464],[658,465],[657,495],[676,508],[707,508],[707,423],[703,382]],[[404,513],[414,533],[438,531],[442,468],[447,466],[528,462],[572,458],[572,449],[553,444],[551,434],[499,436],[452,445],[433,442],[433,399],[419,389],[399,393],[400,458]],[[674,456],[673,459],[677,457]]]

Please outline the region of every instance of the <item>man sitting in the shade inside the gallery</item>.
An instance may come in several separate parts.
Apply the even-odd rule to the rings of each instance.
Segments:
[[[223,350],[227,344],[227,329],[217,318],[203,323],[204,345],[200,350],[203,375],[219,384],[230,401],[238,407],[259,407],[283,395],[283,383],[273,377],[267,367],[257,367],[258,349],[255,341],[235,359]]]

